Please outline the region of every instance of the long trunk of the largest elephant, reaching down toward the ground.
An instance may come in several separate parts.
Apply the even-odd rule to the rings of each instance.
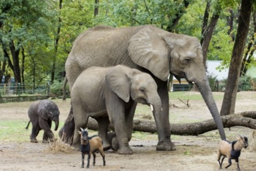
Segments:
[[[219,111],[216,106],[216,103],[213,99],[213,95],[211,92],[208,77],[205,75],[203,81],[195,81],[195,84],[197,85],[207,107],[209,108],[209,110],[211,112],[211,115],[217,125],[217,128],[219,129],[219,134],[221,136],[221,139],[226,140],[223,123],[222,123],[221,117],[219,115]]]

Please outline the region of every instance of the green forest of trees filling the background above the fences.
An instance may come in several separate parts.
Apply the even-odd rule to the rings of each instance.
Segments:
[[[65,61],[80,33],[98,25],[144,24],[197,37],[204,61],[223,61],[219,70],[231,68],[234,74],[228,79],[237,83],[237,77],[256,63],[255,4],[255,0],[0,0],[0,83],[11,77],[21,85],[62,82]],[[230,92],[237,91],[237,84],[227,85]]]

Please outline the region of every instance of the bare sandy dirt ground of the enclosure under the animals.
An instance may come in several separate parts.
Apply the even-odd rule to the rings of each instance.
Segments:
[[[196,93],[196,92],[186,92]],[[218,94],[219,92],[214,92]],[[239,92],[236,102],[236,112],[256,111],[256,92]],[[70,101],[62,102],[53,100],[59,106],[61,115],[60,121],[65,121],[70,107]],[[31,102],[0,104],[0,120],[26,120],[27,109]],[[203,101],[191,100],[190,108],[184,107],[179,100],[173,100],[179,108],[170,108],[171,120],[177,123],[180,120],[198,121],[210,119],[211,114]],[[220,110],[222,99],[216,100]],[[137,116],[139,117],[139,116]],[[0,132],[8,129],[1,127]],[[60,128],[59,128],[60,129]],[[31,125],[30,125],[31,130]],[[250,139],[252,129],[244,127],[232,127],[225,129],[228,140],[235,140],[234,135],[245,134],[249,137],[249,143],[255,142]],[[55,132],[56,134],[58,131]],[[28,137],[30,131],[27,132]],[[66,152],[49,151],[49,145],[42,143],[26,142],[6,142],[0,140],[0,170],[9,171],[81,171],[81,153],[76,150]],[[200,136],[172,136],[172,141],[176,145],[176,151],[156,151],[158,137],[156,134],[136,134],[130,141],[130,146],[134,151],[132,155],[120,155],[113,151],[106,151],[106,166],[103,166],[100,154],[97,154],[96,165],[91,165],[86,170],[189,170],[204,171],[218,170],[216,160],[216,147],[219,142],[218,131],[211,131]],[[252,145],[252,144],[250,144]],[[251,147],[251,146],[249,146]],[[86,156],[87,158],[87,156]],[[236,163],[232,161],[228,169],[235,170]],[[87,160],[85,159],[85,164]],[[227,160],[224,160],[224,164]],[[239,158],[241,170],[256,170],[256,153],[252,148],[243,149]]]

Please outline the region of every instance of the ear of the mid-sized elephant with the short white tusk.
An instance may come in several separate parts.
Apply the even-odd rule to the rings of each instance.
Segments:
[[[130,100],[130,79],[126,70],[131,70],[126,66],[117,65],[106,73],[106,83],[110,90],[115,92],[126,103]]]

